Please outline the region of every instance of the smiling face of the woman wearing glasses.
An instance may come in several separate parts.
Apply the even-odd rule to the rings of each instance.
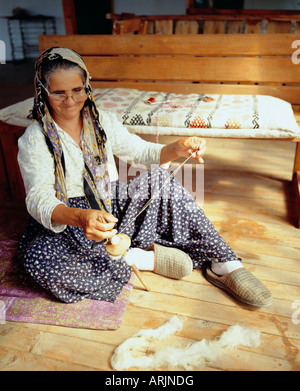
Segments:
[[[77,92],[84,86],[82,77],[76,69],[58,69],[50,78],[48,91],[56,94],[71,95]],[[51,114],[55,120],[71,120],[80,116],[80,112],[84,106],[83,102],[75,102],[71,96],[68,96],[64,101],[57,101],[48,97],[51,107]]]

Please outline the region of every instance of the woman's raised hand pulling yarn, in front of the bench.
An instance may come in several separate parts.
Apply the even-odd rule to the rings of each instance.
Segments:
[[[177,140],[175,144],[175,151],[178,157],[187,158],[193,153],[193,158],[196,159],[198,163],[204,163],[204,160],[202,159],[206,150],[206,141],[204,139],[200,137],[187,137]]]

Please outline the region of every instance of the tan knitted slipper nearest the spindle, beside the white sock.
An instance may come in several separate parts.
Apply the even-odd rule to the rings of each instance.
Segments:
[[[178,248],[165,247],[154,243],[154,273],[180,279],[193,271],[193,261]]]

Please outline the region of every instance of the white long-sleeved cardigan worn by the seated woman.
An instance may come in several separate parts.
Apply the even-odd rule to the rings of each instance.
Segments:
[[[113,155],[125,158],[129,164],[142,164],[147,168],[159,164],[162,144],[147,142],[130,133],[113,113],[101,111],[99,119],[107,135],[111,181],[118,179]],[[68,133],[56,126],[64,153],[68,197],[84,196],[82,151]],[[37,121],[28,126],[18,146],[18,163],[25,185],[28,213],[44,227],[62,232],[65,225],[51,223],[54,208],[62,202],[55,197],[54,161]]]

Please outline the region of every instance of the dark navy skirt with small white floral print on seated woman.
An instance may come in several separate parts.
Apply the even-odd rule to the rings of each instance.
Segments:
[[[179,248],[189,254],[195,269],[204,262],[238,259],[176,179],[161,189],[168,177],[167,170],[156,168],[128,183],[112,183],[116,228],[131,238],[131,247],[159,243]],[[150,197],[153,201],[140,213]],[[69,202],[71,207],[88,208],[85,197]],[[81,228],[67,226],[54,233],[31,217],[19,256],[38,284],[64,302],[84,298],[113,302],[131,276],[124,259],[112,260],[105,246],[94,245]]]

